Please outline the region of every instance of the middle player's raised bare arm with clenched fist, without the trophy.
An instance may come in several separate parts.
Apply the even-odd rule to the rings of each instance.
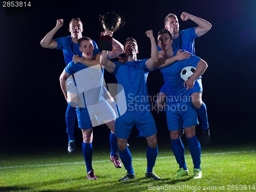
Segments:
[[[146,36],[150,38],[150,41],[151,41],[151,58],[146,60],[146,67],[151,70],[151,69],[154,69],[158,61],[158,50],[157,50],[157,44],[154,38],[153,30],[147,30],[145,33],[146,33]]]

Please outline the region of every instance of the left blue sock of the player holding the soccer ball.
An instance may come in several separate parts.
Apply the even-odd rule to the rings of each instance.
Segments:
[[[187,165],[185,162],[185,148],[180,137],[178,139],[171,139],[170,143],[172,144],[172,150],[179,167],[187,170]]]

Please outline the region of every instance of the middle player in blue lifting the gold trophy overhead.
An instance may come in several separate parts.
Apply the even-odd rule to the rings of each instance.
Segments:
[[[145,32],[151,39],[151,58],[137,59],[138,45],[137,41],[129,37],[125,40],[124,53],[126,62],[123,65],[119,61],[110,61],[107,59],[108,52],[102,51],[100,62],[110,73],[115,74],[118,84],[123,88],[126,98],[126,111],[122,116],[116,119],[115,131],[118,143],[119,157],[127,170],[127,174],[119,181],[127,181],[135,178],[132,165],[132,155],[126,146],[127,139],[135,125],[139,131],[139,137],[145,137],[148,143],[146,158],[147,170],[145,178],[160,178],[153,172],[155,166],[158,146],[157,129],[151,114],[148,98],[146,79],[148,72],[152,70],[158,61],[158,51],[156,41],[152,30]],[[120,91],[120,90],[119,90]],[[118,91],[118,92],[119,92]],[[123,100],[125,98],[117,98]],[[122,111],[123,109],[120,109]]]

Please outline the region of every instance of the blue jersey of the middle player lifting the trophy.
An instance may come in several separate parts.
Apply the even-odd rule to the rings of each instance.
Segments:
[[[116,67],[113,74],[115,74],[118,84],[123,86],[127,111],[150,110],[146,85],[150,70],[146,67],[146,60],[126,61],[125,64],[114,61]],[[118,90],[118,93],[120,91]],[[119,99],[123,100],[124,98]]]

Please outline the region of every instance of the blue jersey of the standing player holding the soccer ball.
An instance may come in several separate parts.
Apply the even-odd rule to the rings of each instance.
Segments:
[[[178,50],[174,50],[173,56],[177,54],[177,51]],[[180,77],[180,71],[186,66],[196,68],[200,59],[201,58],[198,56],[192,55],[188,59],[175,61],[172,65],[159,68],[166,84],[167,102],[182,102],[183,99],[188,99],[188,96],[191,95],[191,89],[186,90],[186,87],[183,86],[184,81]]]

